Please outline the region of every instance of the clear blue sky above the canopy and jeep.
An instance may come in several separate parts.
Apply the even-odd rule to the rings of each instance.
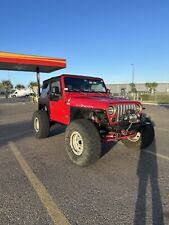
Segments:
[[[0,51],[67,59],[62,73],[106,83],[169,82],[169,0],[5,0]],[[0,71],[27,86],[34,73]]]

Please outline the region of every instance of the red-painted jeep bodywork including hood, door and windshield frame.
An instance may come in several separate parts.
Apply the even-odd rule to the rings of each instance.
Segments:
[[[113,99],[107,93],[85,93],[85,92],[66,92],[64,90],[64,77],[74,77],[74,75],[61,75],[62,99],[58,101],[50,101],[51,120],[68,125],[70,123],[70,107],[88,108],[106,110],[110,105],[118,104],[140,104],[137,101],[125,99]],[[96,77],[75,76],[77,78],[101,79]],[[107,113],[110,125],[112,125],[112,116]]]

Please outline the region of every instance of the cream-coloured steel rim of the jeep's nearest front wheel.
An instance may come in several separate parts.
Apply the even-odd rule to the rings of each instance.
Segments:
[[[70,136],[70,146],[75,155],[83,153],[83,139],[79,132],[74,131]]]

